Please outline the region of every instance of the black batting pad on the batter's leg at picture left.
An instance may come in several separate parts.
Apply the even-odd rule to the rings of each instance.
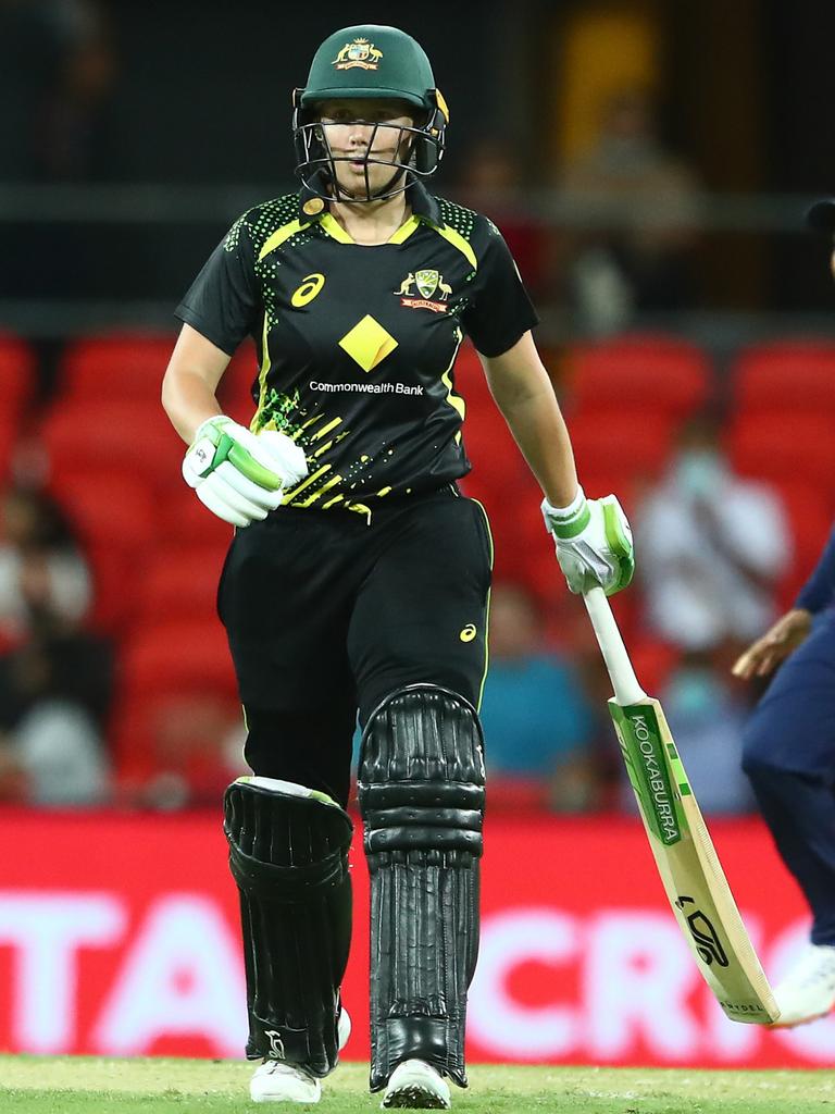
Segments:
[[[327,1075],[351,946],[351,818],[324,793],[240,778],[226,790],[224,831],[240,893],[246,1055]]]

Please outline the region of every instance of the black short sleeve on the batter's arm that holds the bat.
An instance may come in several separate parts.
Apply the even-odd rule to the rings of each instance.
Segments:
[[[477,248],[478,271],[470,305],[461,315],[466,334],[482,355],[501,355],[539,324],[519,270],[492,221],[482,217],[483,247]],[[481,238],[481,237],[479,237]]]

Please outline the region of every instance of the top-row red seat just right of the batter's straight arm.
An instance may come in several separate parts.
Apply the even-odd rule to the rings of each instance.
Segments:
[[[572,413],[642,409],[680,422],[707,401],[713,374],[695,344],[662,334],[636,334],[578,346],[567,359]]]

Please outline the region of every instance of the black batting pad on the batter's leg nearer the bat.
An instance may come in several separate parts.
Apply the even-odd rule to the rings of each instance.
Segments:
[[[371,873],[371,1089],[419,1057],[466,1086],[484,761],[463,697],[410,685],[374,711],[358,778]]]

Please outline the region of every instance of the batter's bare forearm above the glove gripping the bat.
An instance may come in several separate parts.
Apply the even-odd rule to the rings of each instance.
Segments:
[[[552,506],[567,507],[577,495],[577,469],[550,383],[513,399],[502,399],[500,393],[495,401],[542,492]]]

